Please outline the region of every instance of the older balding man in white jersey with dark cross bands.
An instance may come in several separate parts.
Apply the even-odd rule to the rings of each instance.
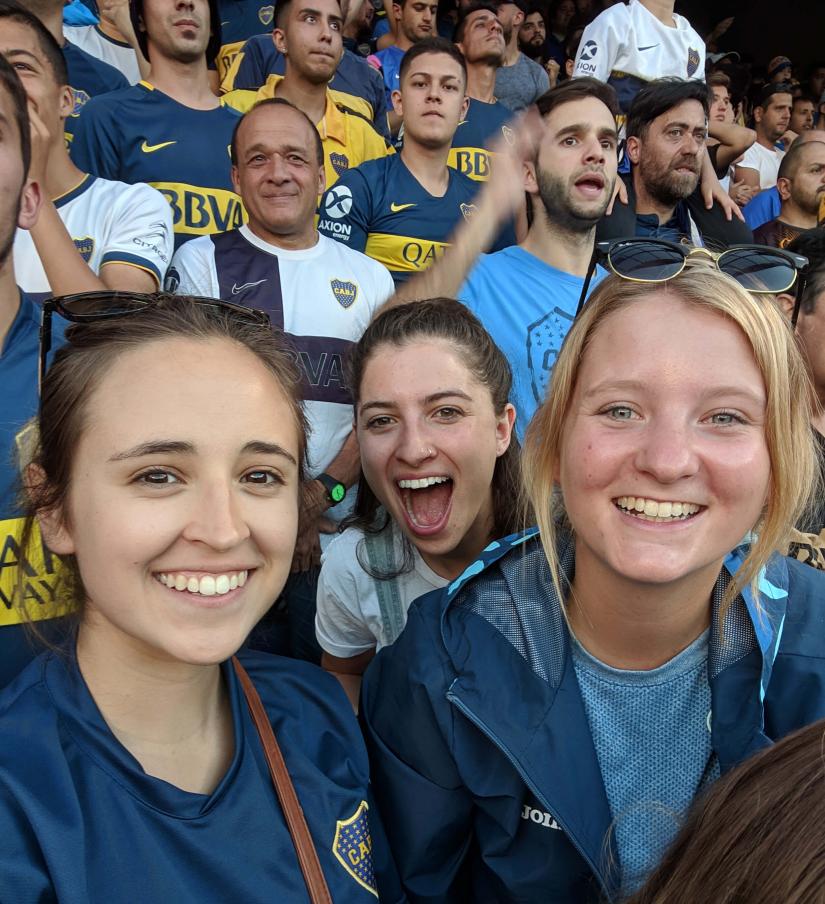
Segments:
[[[375,261],[318,234],[315,208],[324,189],[324,154],[306,114],[280,98],[264,100],[239,122],[231,147],[232,181],[249,221],[187,242],[175,255],[167,285],[181,294],[267,311],[295,349],[304,378],[312,476],[284,599],[289,652],[317,662],[321,532],[334,533],[336,522],[351,510],[354,493],[347,487],[359,473],[344,363],[393,283]],[[345,496],[346,504],[339,504]]]

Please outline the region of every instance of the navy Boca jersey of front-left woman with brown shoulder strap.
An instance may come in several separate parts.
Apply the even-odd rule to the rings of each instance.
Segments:
[[[367,756],[337,682],[242,651],[272,722],[333,901],[398,902],[370,811]],[[300,904],[309,897],[232,667],[235,750],[211,794],[143,771],[104,722],[70,654],[48,652],[0,695],[3,904]]]

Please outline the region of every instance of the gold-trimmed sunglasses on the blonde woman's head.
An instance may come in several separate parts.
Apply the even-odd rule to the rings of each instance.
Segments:
[[[665,282],[678,276],[690,258],[706,260],[722,273],[735,279],[754,295],[778,295],[796,284],[792,326],[799,316],[799,302],[805,288],[804,269],[808,259],[781,248],[767,245],[732,245],[725,251],[710,251],[691,245],[677,245],[664,239],[614,239],[597,242],[576,308],[578,316],[597,264],[632,282]]]

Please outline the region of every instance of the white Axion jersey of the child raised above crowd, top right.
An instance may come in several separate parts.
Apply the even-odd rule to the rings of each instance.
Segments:
[[[600,13],[582,34],[573,75],[589,75],[616,89],[622,112],[646,82],[675,76],[705,78],[705,42],[683,16],[673,28],[639,0]]]

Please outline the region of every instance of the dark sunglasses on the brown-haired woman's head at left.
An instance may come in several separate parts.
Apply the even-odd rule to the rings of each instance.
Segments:
[[[142,292],[81,292],[76,295],[63,295],[50,298],[43,303],[40,316],[40,362],[39,387],[42,389],[46,376],[46,362],[52,347],[52,316],[59,314],[71,323],[97,323],[113,317],[129,317],[151,310],[161,303],[168,303],[177,296],[164,292],[153,295]],[[200,296],[181,296],[187,303],[202,306],[207,312],[219,317],[231,316],[241,322],[259,326],[270,326],[269,315],[256,308],[245,308],[239,304],[221,301],[217,298]]]

